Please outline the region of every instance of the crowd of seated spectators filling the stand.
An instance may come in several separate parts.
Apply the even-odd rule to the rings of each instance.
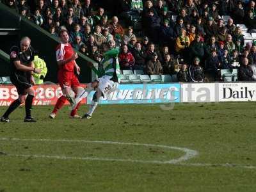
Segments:
[[[256,42],[244,44],[241,27],[256,33],[254,1],[237,0],[6,0],[6,5],[100,61],[101,45],[115,41],[121,69],[176,74],[179,81],[221,81],[235,68],[256,81]],[[175,16],[176,15],[176,16]],[[230,18],[225,23],[223,15]],[[206,80],[208,79],[208,80]]]

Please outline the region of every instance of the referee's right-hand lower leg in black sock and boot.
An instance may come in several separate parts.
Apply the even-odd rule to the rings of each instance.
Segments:
[[[24,118],[24,122],[36,122],[36,120],[31,116],[31,109],[32,109],[32,104],[34,100],[34,95],[35,92],[32,87],[29,87],[26,89],[26,93],[28,93],[28,96],[26,97],[25,100],[25,110],[26,110],[26,116]],[[22,98],[23,100],[24,98]]]

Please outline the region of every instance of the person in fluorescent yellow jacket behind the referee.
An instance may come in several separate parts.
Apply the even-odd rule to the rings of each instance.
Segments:
[[[44,78],[47,74],[47,67],[46,67],[46,63],[44,60],[40,59],[38,57],[38,54],[36,54],[35,51],[35,57],[34,57],[34,64],[35,64],[35,68],[40,68],[41,69],[41,73],[40,74],[33,74],[34,79],[35,79],[35,83],[36,84],[43,84],[44,83]]]

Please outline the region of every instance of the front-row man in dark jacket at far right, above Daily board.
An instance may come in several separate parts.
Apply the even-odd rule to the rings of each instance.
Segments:
[[[248,58],[242,58],[242,63],[238,69],[239,81],[253,81],[253,70],[248,63]]]

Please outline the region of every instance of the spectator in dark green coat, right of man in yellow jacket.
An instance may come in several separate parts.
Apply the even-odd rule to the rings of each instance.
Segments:
[[[193,60],[193,58],[196,57],[203,60],[205,55],[205,45],[204,42],[201,41],[201,36],[199,34],[196,34],[195,40],[191,42],[189,46],[189,54],[190,60]]]

